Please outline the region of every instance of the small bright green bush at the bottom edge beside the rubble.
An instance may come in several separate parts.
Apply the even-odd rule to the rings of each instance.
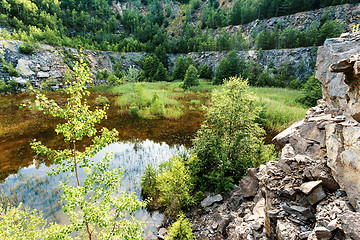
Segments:
[[[180,213],[176,222],[169,228],[169,233],[165,236],[165,240],[193,240],[194,235],[191,229],[191,222]]]

